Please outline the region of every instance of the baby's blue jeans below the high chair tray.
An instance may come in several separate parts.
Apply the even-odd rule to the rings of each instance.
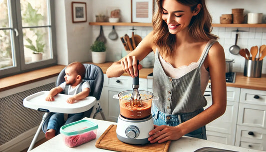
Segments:
[[[68,114],[67,115],[67,120],[64,120],[64,114],[62,113],[54,113],[50,119],[49,123],[47,125],[47,129],[54,129],[56,131],[56,135],[59,134],[59,130],[62,126],[81,120],[84,117],[84,112],[82,113],[77,113],[77,114]]]

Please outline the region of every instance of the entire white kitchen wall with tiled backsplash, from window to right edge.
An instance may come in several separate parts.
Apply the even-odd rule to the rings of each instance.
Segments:
[[[59,0],[60,1],[60,0]],[[88,21],[84,23],[72,23],[71,21],[71,1],[64,0],[65,5],[65,27],[56,26],[58,47],[58,63],[67,64],[73,61],[91,61],[91,51],[89,47],[91,43],[99,35],[99,26],[88,25],[88,22],[95,22],[96,14],[109,15],[108,12],[113,8],[118,8],[121,11],[121,21],[131,21],[131,0],[81,0],[87,3]],[[60,3],[57,2],[56,3]],[[63,3],[63,2],[62,2]],[[213,23],[220,22],[221,14],[231,13],[232,8],[244,8],[244,13],[248,12],[262,12],[264,14],[263,22],[265,23],[266,16],[266,2],[265,0],[206,0],[207,7],[213,16]],[[56,8],[59,6],[56,6]],[[60,7],[60,9],[63,9]],[[59,23],[63,23],[63,19],[58,17]],[[58,29],[59,28],[59,29]],[[63,28],[63,29],[61,29]],[[145,37],[152,27],[135,26],[135,34]],[[115,26],[118,36],[124,34],[131,35],[131,26]],[[234,59],[233,71],[244,72],[245,60],[240,55],[233,55],[229,52],[230,46],[235,43],[237,27],[214,27],[213,33],[220,37],[219,42],[223,45],[227,58]],[[247,32],[239,32],[238,45],[241,48],[250,49],[254,45],[261,46],[266,44],[266,28],[238,28]],[[59,31],[58,31],[59,30]],[[108,34],[112,30],[112,26],[103,26],[104,35],[107,39],[107,61],[116,61],[124,54],[124,47],[118,38],[117,40],[110,40]],[[66,31],[65,33],[63,33]],[[61,40],[60,40],[61,39]],[[65,40],[67,39],[67,40]],[[64,43],[65,42],[65,43]],[[59,45],[59,46],[58,46]],[[68,52],[68,53],[67,53]],[[62,55],[63,54],[63,55]],[[67,56],[67,57],[66,57]],[[263,65],[263,73],[266,73],[266,62]]]

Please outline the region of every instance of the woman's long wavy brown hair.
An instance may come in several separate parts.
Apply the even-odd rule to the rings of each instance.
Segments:
[[[205,0],[177,0],[183,5],[191,7],[194,11],[198,4],[202,5],[200,12],[193,16],[189,28],[189,34],[195,39],[210,40],[217,39],[218,36],[211,34],[212,17],[207,9]],[[153,42],[156,44],[162,54],[171,55],[176,45],[176,36],[168,31],[167,23],[162,19],[163,0],[156,0],[158,5],[157,12],[153,15]]]

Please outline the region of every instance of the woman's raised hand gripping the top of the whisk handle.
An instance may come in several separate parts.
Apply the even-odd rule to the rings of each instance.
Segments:
[[[138,76],[138,70],[142,69],[142,65],[138,65],[137,61],[138,59],[135,56],[128,55],[121,60],[120,65],[124,72],[128,73],[131,77],[136,77]]]

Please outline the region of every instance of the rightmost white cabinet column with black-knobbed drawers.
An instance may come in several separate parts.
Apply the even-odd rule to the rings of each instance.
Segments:
[[[241,89],[235,146],[266,151],[266,91]]]

